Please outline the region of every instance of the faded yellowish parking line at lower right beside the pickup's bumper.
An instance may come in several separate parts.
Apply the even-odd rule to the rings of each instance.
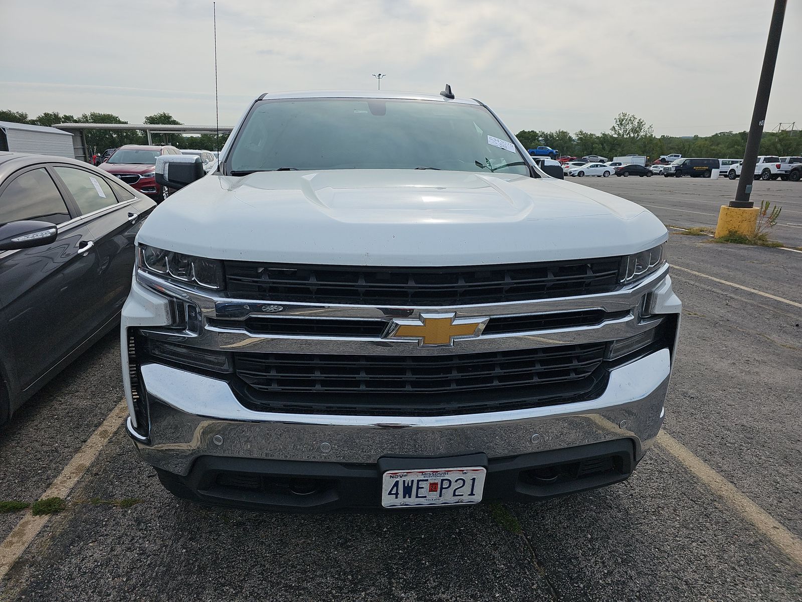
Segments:
[[[719,473],[707,466],[705,462],[691,453],[685,445],[671,437],[666,431],[660,431],[657,442],[662,445],[674,458],[699,478],[710,490],[727,502],[744,519],[752,523],[755,528],[780,548],[789,559],[802,567],[802,539],[788,531],[772,518],[763,508],[752,502],[735,486],[723,478]]]

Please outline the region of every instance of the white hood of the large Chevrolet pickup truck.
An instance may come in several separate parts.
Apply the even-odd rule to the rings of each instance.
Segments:
[[[584,185],[403,169],[210,174],[161,203],[138,235],[201,257],[376,266],[607,257],[666,238],[646,209]]]

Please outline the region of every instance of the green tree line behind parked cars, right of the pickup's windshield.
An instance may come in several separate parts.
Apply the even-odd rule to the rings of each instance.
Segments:
[[[683,157],[741,159],[747,145],[748,132],[719,132],[712,136],[654,136],[654,128],[629,113],[620,113],[609,132],[594,134],[580,130],[573,135],[565,130],[544,132],[522,130],[518,140],[526,148],[545,144],[557,148],[561,155],[584,157],[623,157],[637,153],[654,161],[661,155],[679,153]],[[761,155],[799,155],[802,136],[799,132],[764,132],[760,140]]]

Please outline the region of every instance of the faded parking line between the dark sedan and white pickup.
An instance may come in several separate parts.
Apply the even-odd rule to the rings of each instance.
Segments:
[[[115,406],[115,409],[111,410],[103,424],[81,446],[81,449],[64,467],[61,474],[55,478],[55,481],[47,488],[47,491],[42,494],[42,499],[66,498],[91,463],[95,462],[95,458],[98,457],[100,450],[103,449],[103,445],[106,445],[108,440],[111,439],[111,436],[119,429],[119,425],[123,424],[126,416],[128,416],[128,406],[123,400]],[[38,535],[38,532],[42,530],[42,527],[47,523],[47,519],[50,519],[50,515],[34,516],[28,510],[6,539],[0,543],[0,580],[6,576],[10,567],[17,562],[22,552],[26,550],[26,547]]]

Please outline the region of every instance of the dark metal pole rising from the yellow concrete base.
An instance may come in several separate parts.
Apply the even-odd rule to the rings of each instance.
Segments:
[[[749,196],[751,195],[752,181],[755,180],[755,165],[757,165],[757,153],[760,147],[760,139],[763,137],[763,126],[766,122],[768,96],[772,92],[774,67],[777,63],[777,49],[780,47],[780,34],[783,32],[786,2],[787,0],[774,0],[772,24],[768,28],[766,54],[763,57],[763,69],[760,71],[760,81],[757,84],[755,110],[752,112],[752,120],[749,126],[747,148],[743,153],[741,177],[738,180],[738,189],[735,191],[735,200],[730,201],[731,207],[738,207],[739,209],[750,209],[755,206],[755,203],[749,200]]]

